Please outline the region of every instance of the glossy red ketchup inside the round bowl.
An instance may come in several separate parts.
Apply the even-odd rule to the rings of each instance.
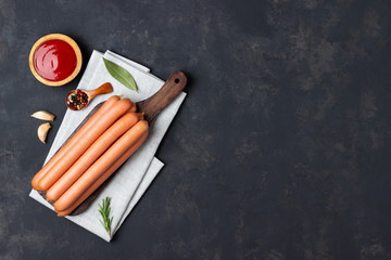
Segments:
[[[48,40],[34,53],[34,66],[42,78],[50,81],[66,79],[76,68],[73,48],[63,40]]]

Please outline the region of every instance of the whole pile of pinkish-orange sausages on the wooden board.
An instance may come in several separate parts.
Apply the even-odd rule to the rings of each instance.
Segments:
[[[58,216],[70,214],[144,142],[149,125],[136,109],[111,96],[36,173],[33,188],[47,192]]]

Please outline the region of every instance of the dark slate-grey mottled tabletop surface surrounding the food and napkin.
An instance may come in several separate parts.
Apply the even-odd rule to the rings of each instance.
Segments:
[[[174,2],[0,0],[0,259],[391,259],[391,2]],[[28,197],[80,78],[33,77],[50,32],[189,76],[112,244]]]

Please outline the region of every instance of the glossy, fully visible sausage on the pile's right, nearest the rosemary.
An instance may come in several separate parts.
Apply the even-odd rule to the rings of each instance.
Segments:
[[[127,150],[129,150],[144,133],[148,132],[148,122],[138,121],[124,135],[93,162],[89,169],[54,203],[55,211],[70,208],[78,197],[85,193]]]

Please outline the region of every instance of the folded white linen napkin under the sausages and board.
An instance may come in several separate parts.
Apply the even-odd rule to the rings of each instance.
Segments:
[[[127,89],[112,78],[104,66],[102,56],[128,70],[135,78],[139,92],[137,93],[136,91]],[[49,161],[63,142],[97,104],[108,100],[113,94],[123,94],[124,98],[128,98],[134,102],[142,101],[153,95],[164,84],[163,80],[150,74],[149,68],[136,62],[111,51],[106,51],[104,54],[93,51],[77,88],[92,90],[104,82],[110,82],[113,86],[112,93],[97,96],[81,110],[66,110],[45,164]],[[186,93],[180,93],[172,104],[155,117],[150,126],[149,136],[144,144],[114,173],[109,185],[101,192],[93,204],[81,214],[74,217],[68,216],[65,217],[66,219],[85,227],[106,242],[111,240],[152,180],[164,166],[162,161],[154,157],[154,154],[185,96]],[[29,196],[53,210],[53,207],[35,190],[31,190]],[[106,196],[111,197],[111,217],[114,217],[111,226],[112,236],[109,236],[99,221],[101,217],[98,212],[98,204],[101,204],[102,199]]]

